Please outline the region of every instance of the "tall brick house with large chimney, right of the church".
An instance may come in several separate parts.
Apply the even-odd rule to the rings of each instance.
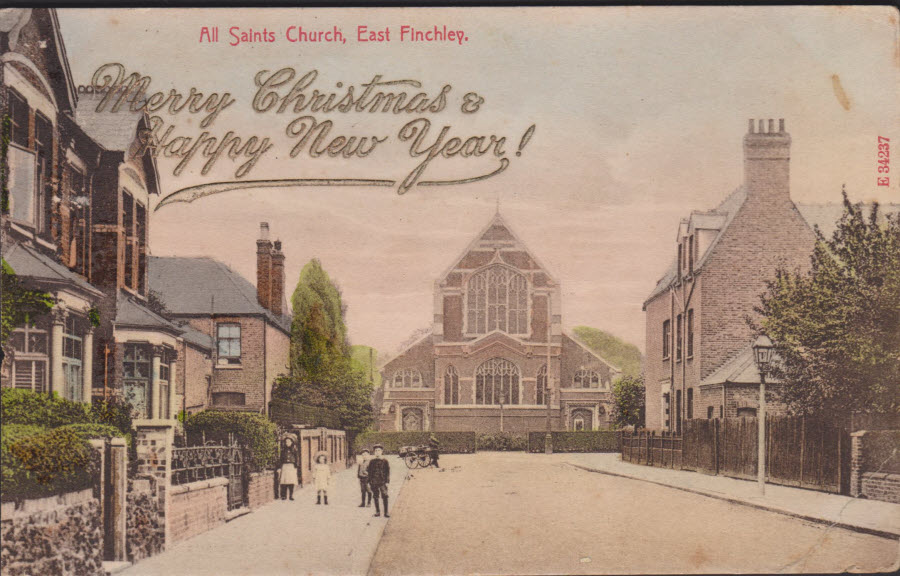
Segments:
[[[679,432],[683,419],[756,414],[759,373],[747,319],[776,268],[809,269],[813,227],[830,236],[843,211],[791,201],[790,147],[784,120],[777,129],[773,120],[751,120],[743,185],[713,210],[682,219],[672,264],[643,307],[647,428]],[[783,413],[782,384],[771,384],[767,410]]]

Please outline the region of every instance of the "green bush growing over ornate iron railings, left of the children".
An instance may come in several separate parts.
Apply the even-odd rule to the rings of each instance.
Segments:
[[[250,465],[255,470],[275,465],[278,455],[278,427],[261,414],[204,410],[185,418],[185,432],[195,439],[201,434],[207,440],[228,442],[234,434],[237,442],[251,452]]]

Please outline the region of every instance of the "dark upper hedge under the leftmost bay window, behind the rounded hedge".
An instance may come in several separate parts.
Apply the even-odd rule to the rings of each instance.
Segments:
[[[0,420],[3,424],[31,424],[56,428],[65,424],[91,422],[87,406],[30,390],[4,388],[0,392]]]

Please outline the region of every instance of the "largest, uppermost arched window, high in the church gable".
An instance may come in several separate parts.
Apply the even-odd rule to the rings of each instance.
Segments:
[[[470,334],[527,334],[528,281],[505,266],[486,268],[466,284],[466,309]]]

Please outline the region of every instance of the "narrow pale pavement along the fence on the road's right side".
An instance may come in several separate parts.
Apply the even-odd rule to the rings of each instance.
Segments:
[[[766,484],[763,496],[754,481],[642,466],[623,462],[619,454],[569,454],[567,461],[591,472],[651,482],[864,534],[900,538],[900,504],[777,484]]]

